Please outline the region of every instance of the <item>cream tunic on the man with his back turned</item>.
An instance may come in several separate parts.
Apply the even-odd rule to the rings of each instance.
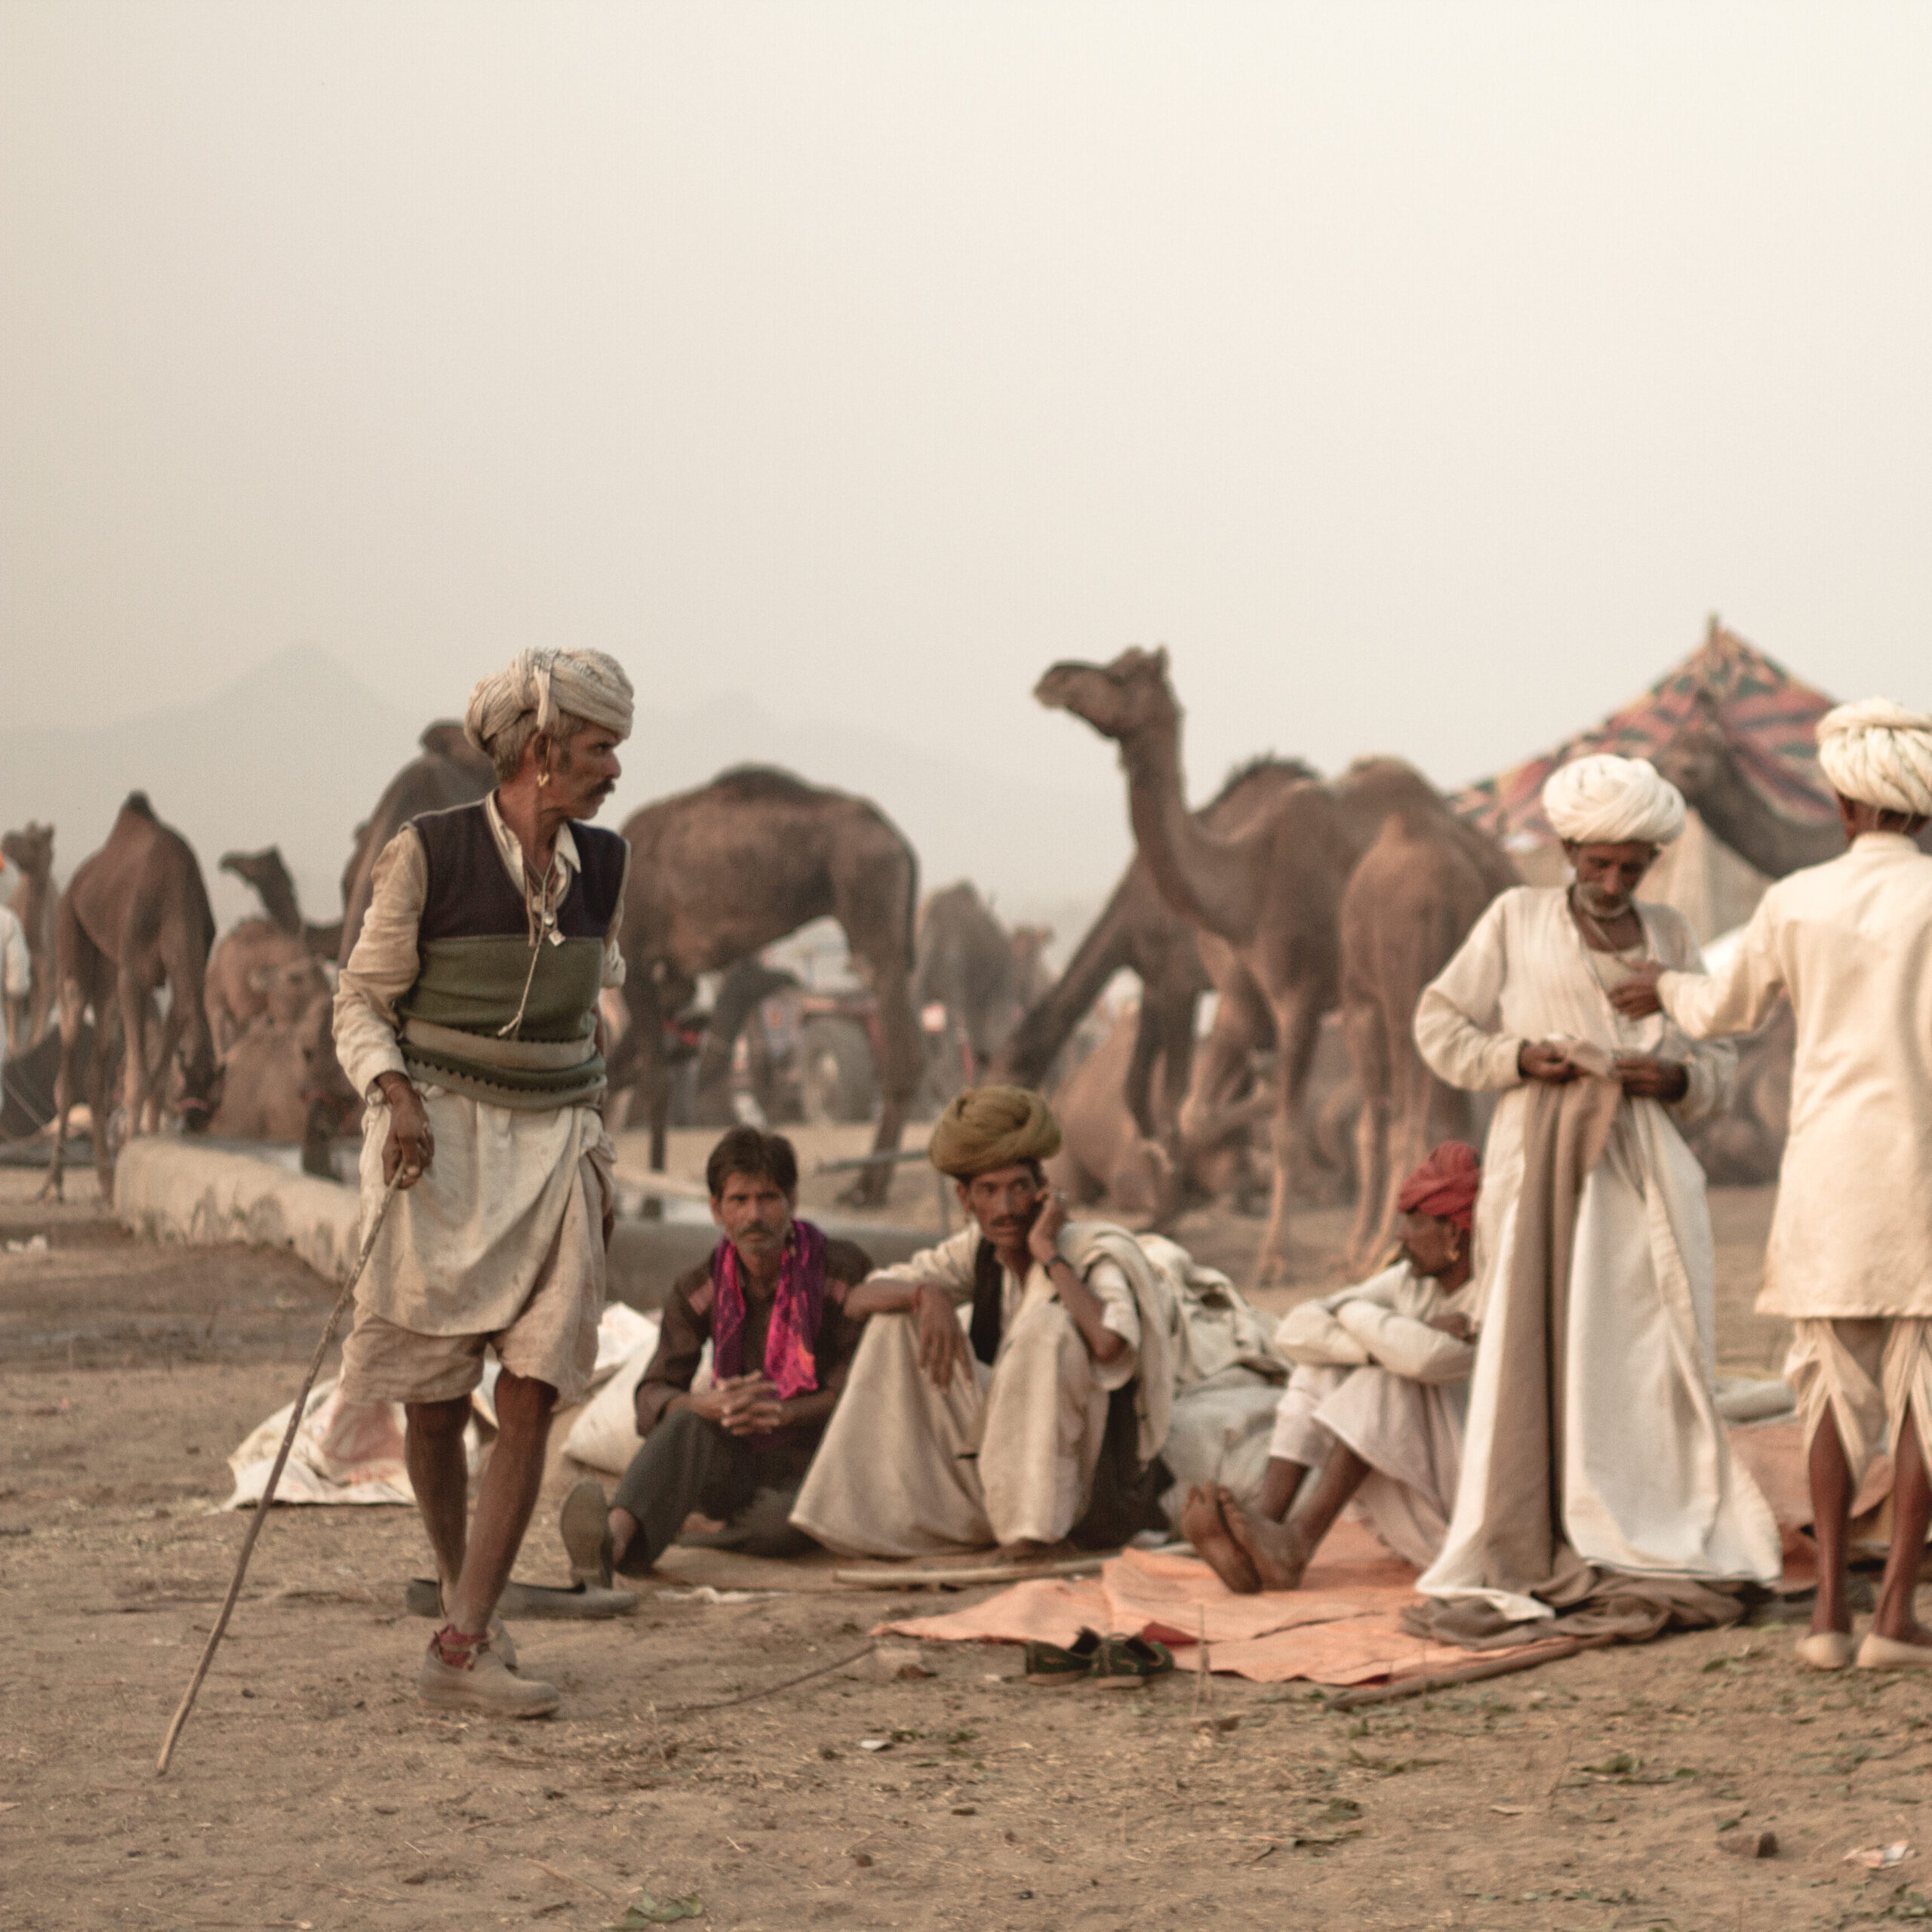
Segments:
[[[1932,858],[1899,833],[1772,885],[1716,980],[1658,997],[1698,1037],[1797,1016],[1758,1312],[1932,1316]]]

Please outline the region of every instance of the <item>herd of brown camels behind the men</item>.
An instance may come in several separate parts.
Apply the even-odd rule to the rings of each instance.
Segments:
[[[649,1124],[651,1165],[665,1163],[667,1043],[699,976],[755,962],[802,925],[833,918],[869,991],[877,1063],[879,1159],[860,1169],[854,1202],[877,1204],[891,1186],[889,1157],[931,1074],[923,1014],[945,1010],[956,1078],[1047,1084],[1126,968],[1140,980],[1138,1009],[1057,1086],[1061,1179],[1082,1200],[1105,1196],[1161,1225],[1208,1196],[1250,1182],[1258,1194],[1246,1150],[1265,1124],[1258,1277],[1281,1279],[1293,1204],[1337,1167],[1327,1109],[1310,1109],[1308,1088],[1318,1047],[1339,1030],[1347,1066],[1337,1086],[1354,1117],[1349,1258],[1366,1264],[1387,1242],[1399,1177],[1435,1140],[1470,1132],[1466,1095],[1422,1065],[1410,1016],[1484,906],[1519,883],[1517,867],[1393,757],[1360,759],[1329,781],[1264,757],[1192,808],[1165,651],[1053,665],[1034,696],[1121,748],[1138,846],[1053,981],[1039,964],[1049,935],[1005,933],[972,887],[922,908],[916,854],[867,800],[742,767],[628,819],[628,1024],[611,1074],[612,1092],[630,1094],[628,1119]],[[1692,717],[1658,761],[1706,823],[1772,877],[1837,850],[1832,827],[1783,819],[1760,798],[1716,719]],[[62,893],[52,829],[8,833],[4,850],[23,879],[14,906],[33,954],[15,1051],[46,1034],[46,1057],[58,1061],[46,1190],[62,1188],[62,1128],[81,1097],[95,1122],[114,1122],[112,1132],[95,1128],[102,1188],[116,1134],[153,1132],[166,1113],[189,1130],[301,1140],[305,1165],[323,1165],[328,1138],[357,1105],[334,1061],[330,972],[355,945],[375,858],[413,815],[468,804],[491,782],[489,761],[458,726],[429,726],[419,755],[357,827],[342,920],[303,920],[274,848],[230,852],[222,869],[257,891],[263,914],[220,939],[193,850],[141,792]],[[1209,991],[1213,1018],[1196,1039]],[[703,1049],[711,1065],[728,1059],[724,1036],[753,1005],[755,989],[728,1014],[719,1003]],[[1325,1034],[1331,1014],[1339,1028]]]

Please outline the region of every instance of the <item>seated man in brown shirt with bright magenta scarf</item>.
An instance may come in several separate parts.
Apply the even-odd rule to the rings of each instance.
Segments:
[[[609,1507],[589,1476],[564,1497],[564,1548],[583,1580],[645,1575],[694,1511],[740,1519],[732,1548],[752,1555],[810,1548],[786,1519],[858,1349],[844,1298],[871,1256],[796,1219],[798,1155],[782,1134],[734,1126],[705,1182],[724,1238],[665,1302],[638,1383],[643,1447]],[[707,1341],[711,1387],[692,1393]]]

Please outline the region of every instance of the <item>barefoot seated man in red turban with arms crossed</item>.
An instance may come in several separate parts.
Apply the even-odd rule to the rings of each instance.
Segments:
[[[1349,1503],[1397,1555],[1418,1569],[1435,1559],[1476,1352],[1464,1291],[1480,1180],[1476,1150],[1445,1140],[1403,1182],[1401,1256],[1281,1318],[1275,1347],[1296,1368],[1256,1507],[1221,1484],[1196,1484],[1180,1515],[1180,1532],[1231,1590],[1300,1588]],[[1320,1474],[1304,1484],[1310,1470]],[[1291,1503],[1300,1505],[1293,1515]]]

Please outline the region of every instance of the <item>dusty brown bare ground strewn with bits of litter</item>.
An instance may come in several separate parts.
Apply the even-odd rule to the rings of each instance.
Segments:
[[[224,1457],[294,1391],[330,1294],[296,1264],[141,1248],[23,1194],[0,1177],[0,1235],[46,1229],[52,1252],[0,1254],[8,1926],[599,1926],[639,1889],[773,1932],[1932,1920],[1932,1851],[1880,1874],[1841,1862],[1932,1845],[1932,1683],[1801,1675],[1783,1631],[1594,1654],[1368,1718],[1215,1681],[1202,1729],[1188,1683],[1036,1692],[1012,1652],[978,1646],[927,1648],[923,1681],[833,1677],[676,1716],[933,1600],[647,1596],[616,1625],[520,1627],[560,1716],[460,1723],[410,1696],[421,1538],[394,1509],[274,1517],[156,1781],[245,1528],[213,1513]],[[1716,1208],[1721,1354],[1762,1372],[1779,1337],[1747,1308],[1768,1198]],[[1238,1258],[1254,1233],[1184,1238]],[[562,1577],[551,1503],[524,1575]],[[1758,1830],[1776,1859],[1723,1851]]]

